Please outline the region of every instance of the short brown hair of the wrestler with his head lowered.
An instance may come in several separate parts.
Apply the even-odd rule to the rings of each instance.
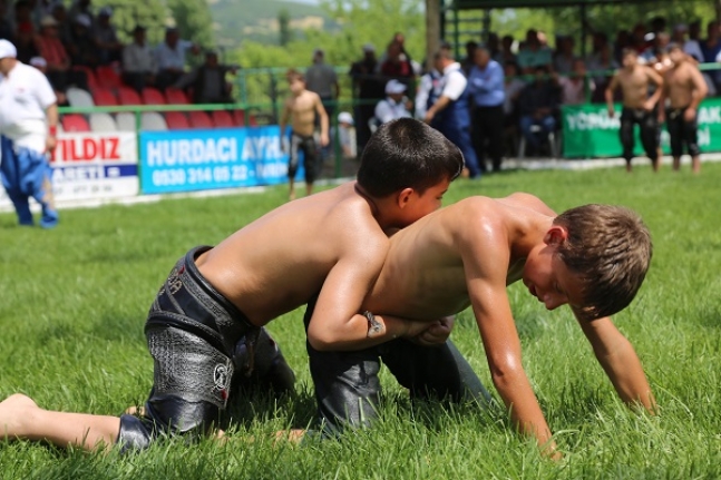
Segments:
[[[613,315],[635,297],[645,278],[653,244],[651,233],[633,210],[615,205],[584,205],[554,219],[568,237],[556,254],[579,275],[583,320]]]

